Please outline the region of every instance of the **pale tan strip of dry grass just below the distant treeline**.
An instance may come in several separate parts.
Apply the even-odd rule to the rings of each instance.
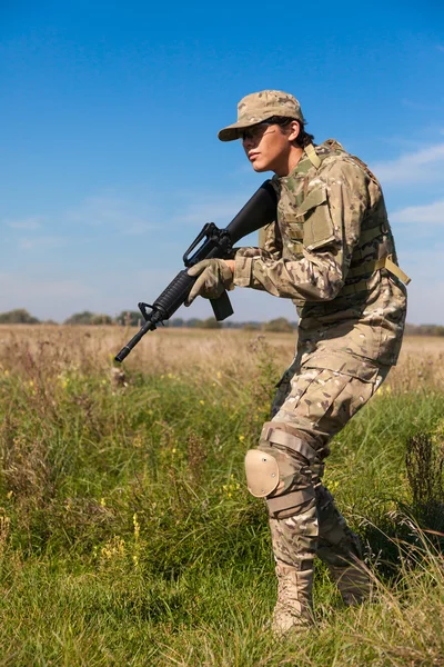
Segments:
[[[3,370],[46,368],[48,375],[67,368],[90,371],[111,368],[114,355],[137,329],[124,327],[0,326],[0,365]],[[152,374],[220,371],[246,377],[256,367],[256,352],[268,350],[282,371],[290,365],[296,341],[292,334],[242,330],[158,329],[148,334],[125,361],[131,370]],[[395,392],[444,388],[444,338],[406,337],[401,359],[390,375]]]

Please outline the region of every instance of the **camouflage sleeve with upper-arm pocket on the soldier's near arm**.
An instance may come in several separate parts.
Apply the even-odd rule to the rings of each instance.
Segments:
[[[319,172],[302,205],[289,211],[293,221],[303,223],[303,257],[236,253],[234,285],[290,299],[334,299],[344,285],[369,207],[367,180],[351,160],[337,159]]]

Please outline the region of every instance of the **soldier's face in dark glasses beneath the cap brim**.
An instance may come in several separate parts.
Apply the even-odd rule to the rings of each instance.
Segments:
[[[297,121],[286,128],[263,122],[248,128],[241,141],[254,171],[287,176],[302,153],[302,149],[293,145],[297,135]]]

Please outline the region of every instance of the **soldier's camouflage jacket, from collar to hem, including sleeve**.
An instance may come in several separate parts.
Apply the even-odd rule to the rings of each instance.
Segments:
[[[297,359],[372,379],[396,364],[406,290],[375,261],[396,252],[380,183],[329,139],[304,151],[287,177],[274,177],[278,219],[261,248],[240,248],[234,285],[290,298],[297,307]],[[397,262],[396,262],[397,263]]]

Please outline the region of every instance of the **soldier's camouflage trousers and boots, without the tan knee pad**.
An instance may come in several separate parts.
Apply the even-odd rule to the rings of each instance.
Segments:
[[[278,633],[312,620],[315,556],[329,567],[345,604],[359,604],[370,593],[360,540],[323,486],[322,475],[330,439],[374,395],[387,371],[375,366],[363,380],[302,367],[279,385],[273,417],[258,448],[279,467],[280,482],[266,496],[278,576]],[[287,442],[282,434],[290,436]]]

